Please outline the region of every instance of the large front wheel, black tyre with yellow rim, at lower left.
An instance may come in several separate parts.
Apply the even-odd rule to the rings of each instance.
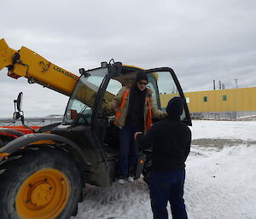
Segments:
[[[81,176],[77,162],[68,153],[55,148],[27,150],[21,155],[20,158],[19,156],[13,159],[9,158],[9,161],[0,168],[0,173],[1,169],[2,171],[5,169],[3,174],[0,175],[0,218],[67,219],[73,216],[73,213],[77,210],[81,192]],[[57,180],[57,176],[60,174],[62,186],[58,182],[53,188],[51,185],[55,182],[55,173],[57,173]],[[52,179],[51,174],[53,174]],[[33,183],[27,185],[30,181]],[[44,192],[40,189],[43,189]],[[29,190],[27,194],[26,190]],[[22,197],[24,191],[26,195]],[[57,203],[55,200],[58,199],[61,200]],[[24,210],[24,206],[27,207],[26,205],[29,205],[27,210],[29,208],[38,210],[38,212],[37,210],[32,212],[38,214],[37,217],[32,216],[30,211],[26,213],[27,210]],[[53,212],[42,214],[43,211],[40,211],[40,208],[47,210],[49,206],[51,206]],[[58,212],[55,212],[55,209]]]

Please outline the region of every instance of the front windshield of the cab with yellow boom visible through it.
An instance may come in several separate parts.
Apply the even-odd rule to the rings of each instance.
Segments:
[[[108,74],[108,68],[97,68],[87,71],[79,78],[79,82],[73,90],[73,95],[67,103],[67,109],[63,118],[65,124],[73,123],[79,119],[79,123],[90,123],[92,107],[96,100],[96,92],[102,84],[103,78]],[[87,77],[90,75],[89,77]]]

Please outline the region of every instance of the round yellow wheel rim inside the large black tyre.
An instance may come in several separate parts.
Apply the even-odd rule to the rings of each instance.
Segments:
[[[23,219],[52,219],[67,205],[70,184],[60,170],[39,170],[28,177],[16,196],[16,210]]]

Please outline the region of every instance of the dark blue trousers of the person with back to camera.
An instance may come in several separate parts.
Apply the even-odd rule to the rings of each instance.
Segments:
[[[150,173],[150,199],[154,219],[167,219],[166,210],[169,201],[172,219],[187,219],[187,212],[183,199],[185,170]]]

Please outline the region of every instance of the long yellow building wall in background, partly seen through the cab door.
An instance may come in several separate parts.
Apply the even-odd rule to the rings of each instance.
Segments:
[[[256,87],[187,92],[184,95],[189,99],[189,112],[256,111]],[[165,108],[172,96],[160,95],[161,107]]]

